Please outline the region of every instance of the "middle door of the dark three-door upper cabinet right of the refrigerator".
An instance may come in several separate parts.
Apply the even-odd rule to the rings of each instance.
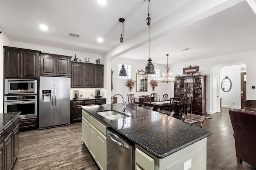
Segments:
[[[84,65],[84,77],[83,77],[83,84],[85,88],[93,88],[93,65],[92,64],[85,64]]]

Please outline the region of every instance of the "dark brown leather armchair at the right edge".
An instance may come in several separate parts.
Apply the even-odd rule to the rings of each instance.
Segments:
[[[236,146],[237,162],[242,161],[256,167],[256,111],[229,109]]]

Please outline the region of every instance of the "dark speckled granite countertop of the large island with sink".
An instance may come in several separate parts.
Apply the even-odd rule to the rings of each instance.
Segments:
[[[164,158],[212,134],[174,117],[134,105],[126,104],[125,114],[130,117],[117,120],[106,119],[96,112],[105,110],[122,112],[122,104],[82,106],[82,108],[158,158]],[[134,115],[131,114],[132,111]]]

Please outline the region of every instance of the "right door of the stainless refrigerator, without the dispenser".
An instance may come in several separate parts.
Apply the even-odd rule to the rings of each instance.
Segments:
[[[54,126],[70,123],[70,78],[54,77]]]

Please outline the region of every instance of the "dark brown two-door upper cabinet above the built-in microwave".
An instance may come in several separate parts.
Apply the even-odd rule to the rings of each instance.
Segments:
[[[37,78],[39,53],[4,46],[4,78]]]

